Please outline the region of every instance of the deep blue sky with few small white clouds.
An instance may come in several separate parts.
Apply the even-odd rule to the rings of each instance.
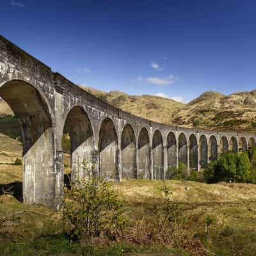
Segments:
[[[0,0],[0,34],[77,84],[188,102],[256,88],[255,1]]]

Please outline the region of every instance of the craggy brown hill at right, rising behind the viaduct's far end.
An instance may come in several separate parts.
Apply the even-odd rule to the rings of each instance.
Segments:
[[[225,131],[253,131],[256,127],[256,90],[223,95],[205,92],[173,116],[173,123]]]

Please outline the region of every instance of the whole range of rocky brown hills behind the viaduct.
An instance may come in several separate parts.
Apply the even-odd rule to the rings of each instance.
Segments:
[[[256,90],[230,95],[205,92],[183,104],[153,95],[134,96],[118,91],[106,93],[82,88],[116,108],[156,122],[219,131],[254,132],[256,129]],[[13,116],[12,110],[1,99],[0,118],[8,115]]]

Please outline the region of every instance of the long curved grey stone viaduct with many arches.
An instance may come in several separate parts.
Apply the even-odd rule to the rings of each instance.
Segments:
[[[0,97],[22,131],[26,204],[60,204],[65,125],[72,146],[72,179],[83,177],[84,159],[109,180],[164,179],[166,170],[180,161],[200,170],[221,152],[255,144],[255,134],[188,129],[125,113],[52,72],[3,36]]]

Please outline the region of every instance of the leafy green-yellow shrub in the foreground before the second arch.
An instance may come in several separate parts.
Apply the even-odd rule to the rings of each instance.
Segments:
[[[63,220],[70,240],[84,238],[86,243],[99,236],[113,240],[125,224],[122,202],[111,185],[93,175],[71,184],[65,193]]]

